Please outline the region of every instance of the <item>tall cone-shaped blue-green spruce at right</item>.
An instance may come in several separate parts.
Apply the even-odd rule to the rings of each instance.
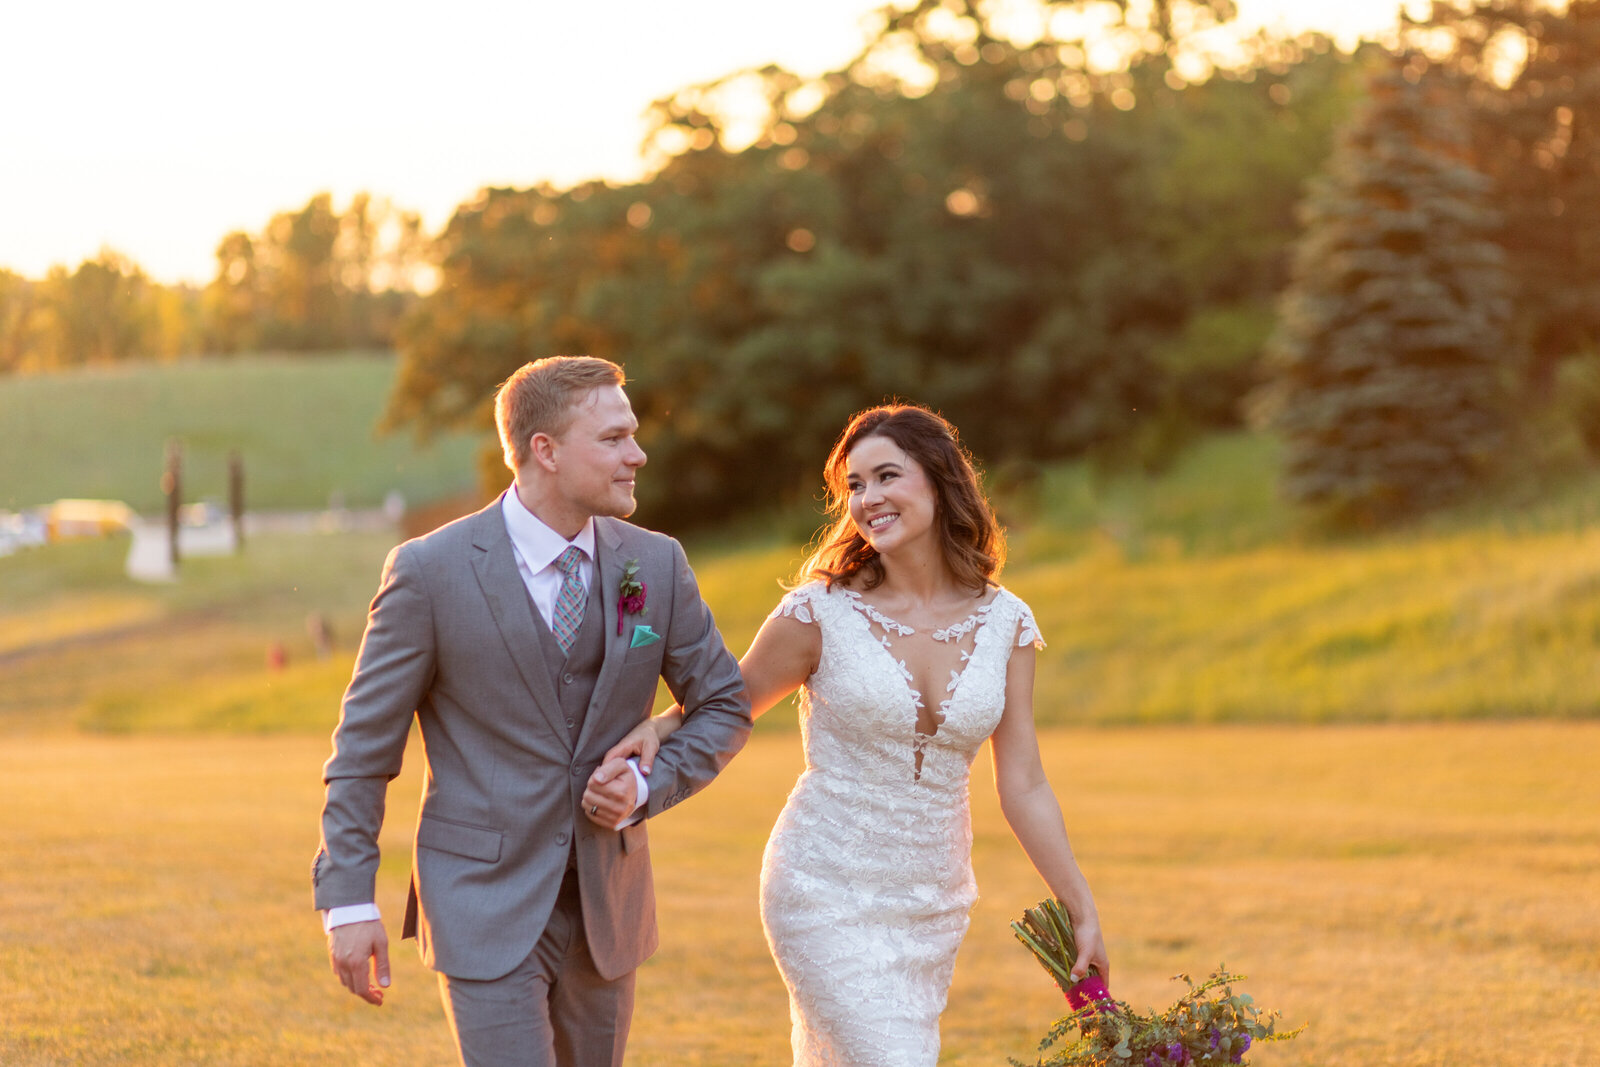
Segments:
[[[1341,520],[1450,499],[1506,440],[1499,219],[1459,90],[1427,66],[1397,58],[1341,136],[1270,352],[1285,490]]]

